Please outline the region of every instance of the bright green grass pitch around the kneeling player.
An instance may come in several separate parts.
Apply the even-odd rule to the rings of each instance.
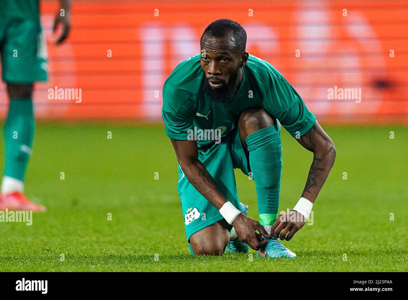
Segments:
[[[284,242],[298,258],[266,260],[250,250],[251,260],[190,256],[177,162],[162,127],[38,124],[26,193],[48,212],[35,213],[31,226],[0,223],[0,271],[408,271],[408,128],[325,129],[337,159],[314,224]],[[299,199],[312,156],[285,131],[282,140],[279,210],[286,210]],[[236,176],[240,200],[257,218],[253,181]]]

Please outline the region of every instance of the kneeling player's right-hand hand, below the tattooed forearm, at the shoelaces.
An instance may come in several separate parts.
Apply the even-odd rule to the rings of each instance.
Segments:
[[[272,225],[271,235],[275,238],[288,241],[303,227],[306,221],[307,220],[303,215],[294,210],[281,213]]]

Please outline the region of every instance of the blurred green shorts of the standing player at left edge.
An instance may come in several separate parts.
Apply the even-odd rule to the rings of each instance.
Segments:
[[[0,54],[5,82],[30,84],[47,80],[47,48],[38,22],[2,18]]]

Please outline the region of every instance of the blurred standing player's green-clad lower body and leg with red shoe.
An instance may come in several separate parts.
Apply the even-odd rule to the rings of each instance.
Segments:
[[[0,209],[44,211],[45,207],[33,204],[22,192],[34,134],[33,82],[47,80],[47,51],[38,1],[20,4],[5,1],[0,9],[2,77],[9,94]]]

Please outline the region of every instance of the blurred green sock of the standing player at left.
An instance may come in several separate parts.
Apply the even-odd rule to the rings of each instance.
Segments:
[[[31,98],[10,99],[10,108],[4,124],[6,157],[4,176],[24,179],[31,155],[34,135],[33,101]]]

